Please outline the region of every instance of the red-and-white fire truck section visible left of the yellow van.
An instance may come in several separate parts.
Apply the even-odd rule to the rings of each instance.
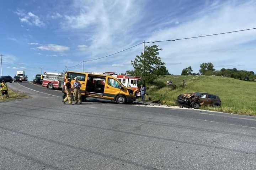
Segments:
[[[62,88],[64,84],[64,78],[64,73],[44,72],[42,86],[45,86],[48,89]]]

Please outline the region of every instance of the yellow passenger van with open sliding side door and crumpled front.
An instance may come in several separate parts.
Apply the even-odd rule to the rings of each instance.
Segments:
[[[114,100],[119,104],[132,103],[134,101],[134,91],[126,88],[122,83],[111,75],[90,74],[82,72],[68,71],[65,74],[65,82],[71,79],[71,84],[77,77],[81,83],[82,98],[95,97],[108,100]],[[62,92],[64,92],[65,85]]]

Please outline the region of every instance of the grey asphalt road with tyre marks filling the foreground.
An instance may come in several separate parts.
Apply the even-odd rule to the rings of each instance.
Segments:
[[[255,169],[256,118],[91,100],[8,84],[31,98],[0,103],[0,169]],[[30,88],[30,89],[28,89]]]

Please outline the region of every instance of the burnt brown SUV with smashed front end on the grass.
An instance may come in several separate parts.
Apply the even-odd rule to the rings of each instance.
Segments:
[[[177,97],[176,102],[179,104],[185,104],[195,109],[199,108],[201,105],[214,107],[221,106],[221,100],[219,96],[204,92],[181,94]]]

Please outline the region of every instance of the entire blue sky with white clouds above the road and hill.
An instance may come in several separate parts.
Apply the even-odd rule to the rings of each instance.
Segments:
[[[8,0],[0,2],[3,75],[82,71],[82,60],[110,55],[145,41],[186,38],[256,27],[255,0]],[[171,74],[212,62],[214,68],[256,72],[256,30],[159,45]],[[125,73],[143,44],[84,63],[86,72]]]

